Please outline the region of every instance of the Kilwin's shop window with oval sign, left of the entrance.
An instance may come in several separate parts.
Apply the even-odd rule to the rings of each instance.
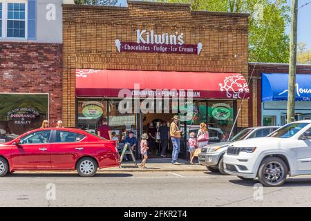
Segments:
[[[107,102],[102,99],[78,100],[78,128],[97,133],[102,118],[107,117]]]

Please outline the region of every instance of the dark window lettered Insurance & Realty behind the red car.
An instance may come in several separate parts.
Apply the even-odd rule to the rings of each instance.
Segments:
[[[48,119],[47,94],[0,94],[0,142],[39,128]]]

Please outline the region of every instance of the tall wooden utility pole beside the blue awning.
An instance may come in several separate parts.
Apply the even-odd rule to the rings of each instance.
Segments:
[[[288,123],[294,122],[295,120],[297,20],[298,20],[298,0],[292,0],[291,30],[290,30],[290,73],[288,76]]]

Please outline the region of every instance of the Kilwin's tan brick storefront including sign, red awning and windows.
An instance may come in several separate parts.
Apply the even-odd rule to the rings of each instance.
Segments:
[[[241,100],[249,97],[248,15],[138,1],[129,1],[128,8],[63,8],[67,126],[95,132],[107,117],[113,136],[121,140],[124,132],[139,137],[150,124],[179,115],[187,133],[206,122],[211,140],[229,135]],[[162,102],[145,105],[157,96]],[[122,97],[131,102],[125,105]],[[189,97],[191,105],[180,101]],[[125,113],[120,111],[124,105]],[[243,102],[236,130],[247,127],[248,118],[248,102]]]

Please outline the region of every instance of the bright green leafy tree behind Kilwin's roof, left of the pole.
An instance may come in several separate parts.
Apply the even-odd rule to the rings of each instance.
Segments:
[[[288,63],[290,6],[286,0],[158,0],[191,3],[192,10],[249,13],[249,61]]]

